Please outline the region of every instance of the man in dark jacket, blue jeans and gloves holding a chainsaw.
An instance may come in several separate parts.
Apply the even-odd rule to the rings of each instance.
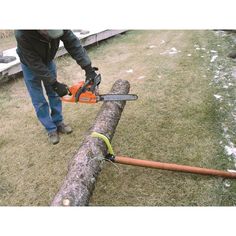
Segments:
[[[97,68],[91,66],[86,50],[71,30],[15,30],[15,38],[24,81],[36,115],[45,127],[49,141],[57,144],[60,141],[58,133],[72,132],[72,128],[63,121],[60,99],[69,90],[66,84],[57,81],[56,65],[53,61],[60,40],[72,58],[85,70],[86,80],[93,82],[97,76]]]

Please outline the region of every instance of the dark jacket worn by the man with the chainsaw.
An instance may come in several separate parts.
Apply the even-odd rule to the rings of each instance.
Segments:
[[[49,83],[55,82],[56,78],[50,74],[47,64],[54,59],[60,40],[82,69],[91,65],[86,50],[71,30],[64,30],[60,38],[50,40],[37,30],[15,30],[15,38],[21,63],[28,66],[39,79]]]

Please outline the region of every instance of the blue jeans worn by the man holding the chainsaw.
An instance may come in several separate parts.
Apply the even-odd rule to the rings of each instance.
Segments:
[[[53,91],[49,83],[38,79],[37,75],[28,66],[21,63],[21,67],[24,81],[39,121],[47,132],[56,131],[57,125],[63,121],[60,97]],[[47,67],[55,77],[57,73],[55,63],[50,62]],[[42,84],[44,85],[49,103],[45,99]]]

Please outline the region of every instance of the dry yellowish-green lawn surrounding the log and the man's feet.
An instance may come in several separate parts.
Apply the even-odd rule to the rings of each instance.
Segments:
[[[214,41],[227,45],[212,31],[129,31],[88,49],[102,73],[101,93],[121,78],[139,96],[126,104],[112,140],[117,155],[233,169],[219,145],[223,114],[213,96],[218,88],[212,83],[210,54],[194,46],[209,51]],[[166,53],[171,48],[180,52]],[[73,84],[84,78],[69,56],[57,64],[60,81]],[[23,80],[0,90],[0,205],[49,205],[100,105],[64,104],[65,120],[74,132],[51,146]],[[232,188],[225,188],[221,178],[105,163],[90,204],[235,205],[230,183]]]

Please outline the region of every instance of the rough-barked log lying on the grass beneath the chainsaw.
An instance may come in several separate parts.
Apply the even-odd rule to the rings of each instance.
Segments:
[[[130,84],[117,80],[110,93],[128,94]],[[52,206],[87,206],[92,196],[96,179],[102,168],[102,157],[107,154],[105,143],[91,137],[93,131],[106,135],[110,140],[120,120],[125,101],[104,102],[94,124],[88,130],[80,148],[69,163],[68,173]]]

